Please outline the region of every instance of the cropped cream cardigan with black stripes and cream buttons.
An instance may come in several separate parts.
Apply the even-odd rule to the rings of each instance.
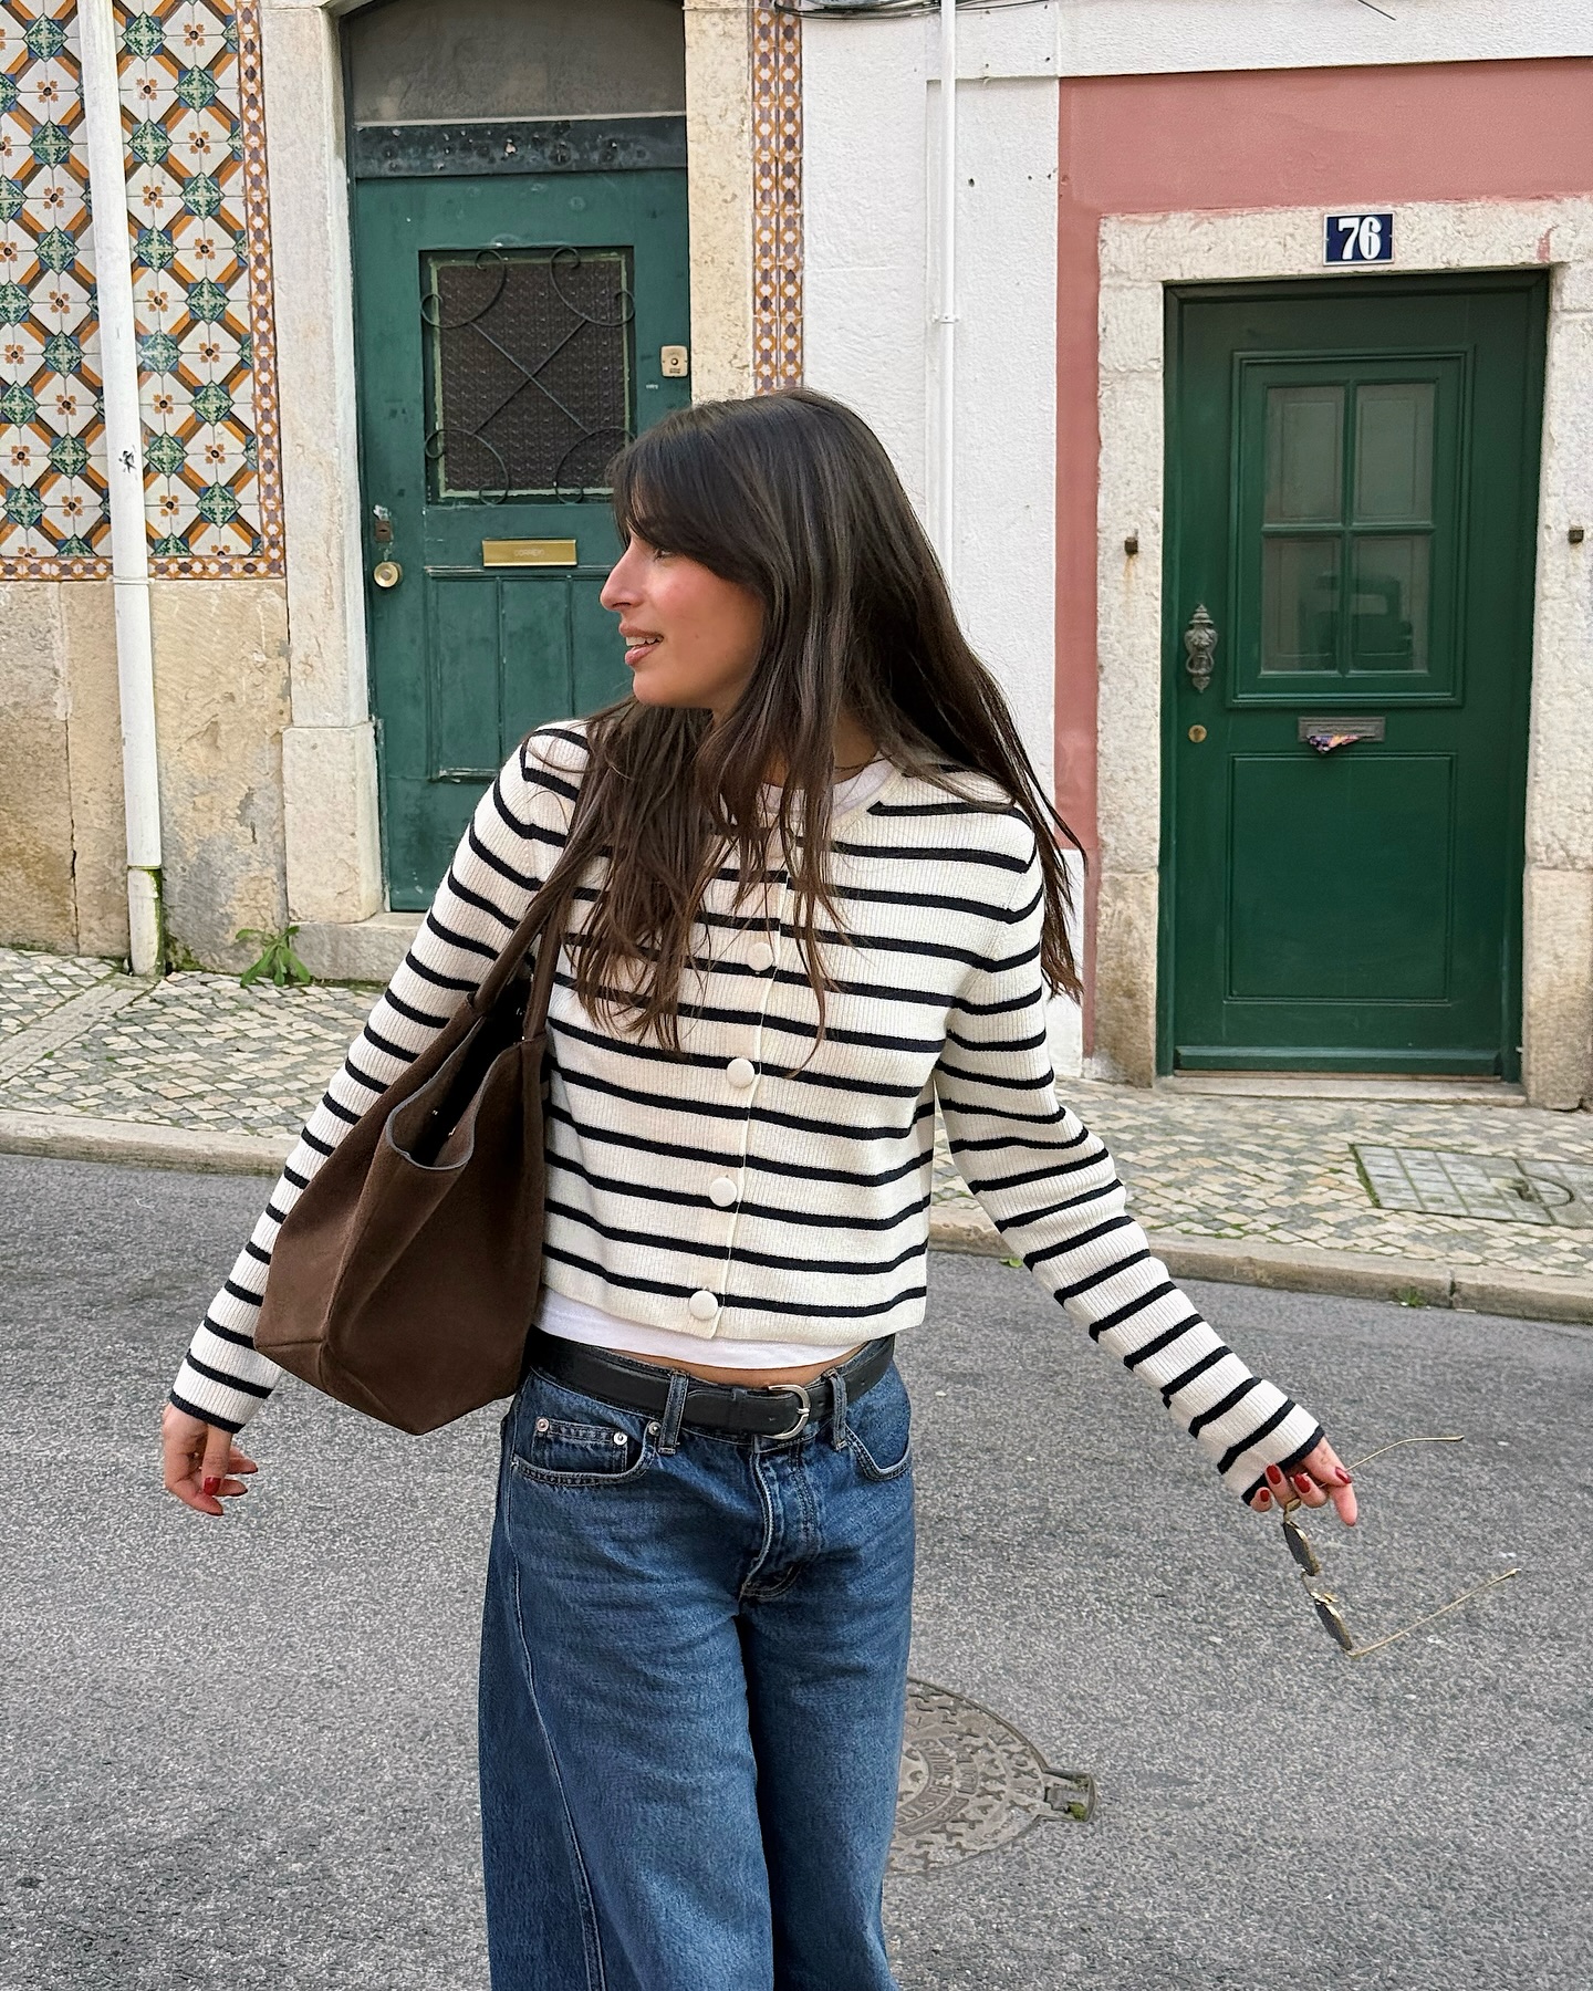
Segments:
[[[544,727],[482,796],[430,912],[305,1127],[195,1334],[173,1404],[241,1428],[279,1370],[251,1332],[277,1228],[354,1121],[474,990],[564,844],[579,725]],[[591,880],[585,882],[591,900]],[[822,1037],[767,872],[723,870],[681,994],[681,1047],[593,1017],[568,956],[550,1005],[554,1292],[703,1342],[848,1348],[924,1318],[934,1107],[1016,1254],[1247,1493],[1318,1441],[1151,1256],[1111,1155],[1057,1101],[1039,976],[1033,830],[990,782],[892,773],[832,828]]]

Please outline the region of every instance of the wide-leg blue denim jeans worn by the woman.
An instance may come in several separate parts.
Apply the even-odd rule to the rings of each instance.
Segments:
[[[675,1449],[532,1370],[482,1627],[494,1991],[892,1991],[910,1613],[894,1368],[795,1441]]]

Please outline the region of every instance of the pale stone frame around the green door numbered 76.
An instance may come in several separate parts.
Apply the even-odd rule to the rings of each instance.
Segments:
[[[1368,203],[1378,205],[1378,203]],[[1593,207],[1585,199],[1384,203],[1390,275],[1549,269],[1537,488],[1521,1077],[1527,1099],[1593,1093]],[[1097,1069],[1155,1083],[1161,874],[1161,540],[1165,287],[1322,277],[1322,209],[1107,215],[1101,221],[1097,486],[1099,824]],[[1372,273],[1358,265],[1356,275]],[[1123,585],[1121,548],[1145,548]]]

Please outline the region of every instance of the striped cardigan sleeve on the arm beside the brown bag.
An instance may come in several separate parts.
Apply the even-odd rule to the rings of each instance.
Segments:
[[[277,1232],[339,1141],[480,988],[564,848],[583,767],[579,729],[544,727],[516,749],[478,802],[398,974],[299,1135],[193,1336],[171,1388],[177,1410],[239,1432],[271,1396],[281,1370],[257,1354],[255,1322]]]

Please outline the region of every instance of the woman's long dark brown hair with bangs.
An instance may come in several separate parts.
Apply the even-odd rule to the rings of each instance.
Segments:
[[[591,763],[558,870],[605,858],[575,952],[589,1009],[679,1043],[681,976],[713,872],[745,890],[789,868],[795,932],[818,999],[830,896],[834,729],[848,709],[898,769],[958,792],[988,774],[1029,820],[1045,890],[1041,974],[1077,996],[1069,880],[1043,794],[996,679],[968,647],[946,579],[868,424],[826,394],[787,388],[665,416],[613,464],[621,538],[697,559],[763,603],[763,643],[729,717],[633,699],[587,727]],[[765,798],[783,769],[779,806]],[[1002,806],[1002,804],[992,804]]]

